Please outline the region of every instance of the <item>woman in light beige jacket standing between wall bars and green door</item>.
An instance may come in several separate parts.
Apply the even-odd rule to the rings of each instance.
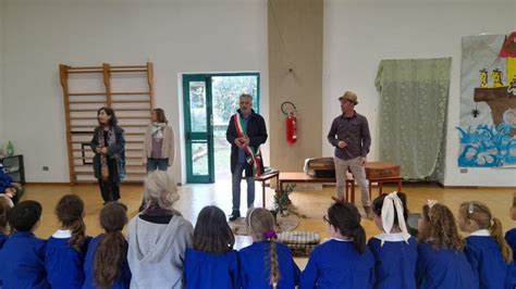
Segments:
[[[143,161],[147,165],[147,173],[167,171],[174,162],[174,130],[169,126],[162,109],[153,109],[150,121],[152,123],[145,133]]]

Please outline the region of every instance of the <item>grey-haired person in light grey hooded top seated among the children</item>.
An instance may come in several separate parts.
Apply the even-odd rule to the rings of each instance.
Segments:
[[[131,288],[184,288],[185,251],[193,247],[194,227],[172,208],[179,194],[167,172],[150,173],[144,186],[145,210],[128,225]]]

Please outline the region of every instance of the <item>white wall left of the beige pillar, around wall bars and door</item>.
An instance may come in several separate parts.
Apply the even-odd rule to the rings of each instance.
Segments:
[[[19,120],[4,135],[25,154],[28,181],[69,180],[60,63],[153,62],[156,103],[175,131],[180,73],[257,71],[268,118],[267,1],[5,0],[2,21],[1,122]],[[172,169],[184,180],[179,162]]]

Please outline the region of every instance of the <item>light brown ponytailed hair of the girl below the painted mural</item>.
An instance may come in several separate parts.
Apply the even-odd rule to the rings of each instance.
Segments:
[[[513,254],[511,252],[511,248],[508,247],[507,242],[505,242],[503,237],[502,222],[500,222],[497,217],[493,217],[491,210],[489,210],[484,203],[477,201],[464,202],[460,204],[458,213],[462,217],[464,217],[464,219],[475,221],[480,229],[489,229],[491,236],[499,243],[502,256],[505,262],[507,264],[512,262]]]

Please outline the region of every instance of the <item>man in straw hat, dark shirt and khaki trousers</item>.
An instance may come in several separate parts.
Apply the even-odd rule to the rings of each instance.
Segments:
[[[328,133],[328,141],[335,147],[335,201],[347,201],[344,196],[346,172],[349,168],[361,191],[361,203],[367,217],[372,218],[371,201],[369,199],[368,180],[366,179],[366,158],[371,146],[371,136],[366,116],[355,111],[358,104],[357,95],[346,91],[339,98],[342,114],[333,120]]]

